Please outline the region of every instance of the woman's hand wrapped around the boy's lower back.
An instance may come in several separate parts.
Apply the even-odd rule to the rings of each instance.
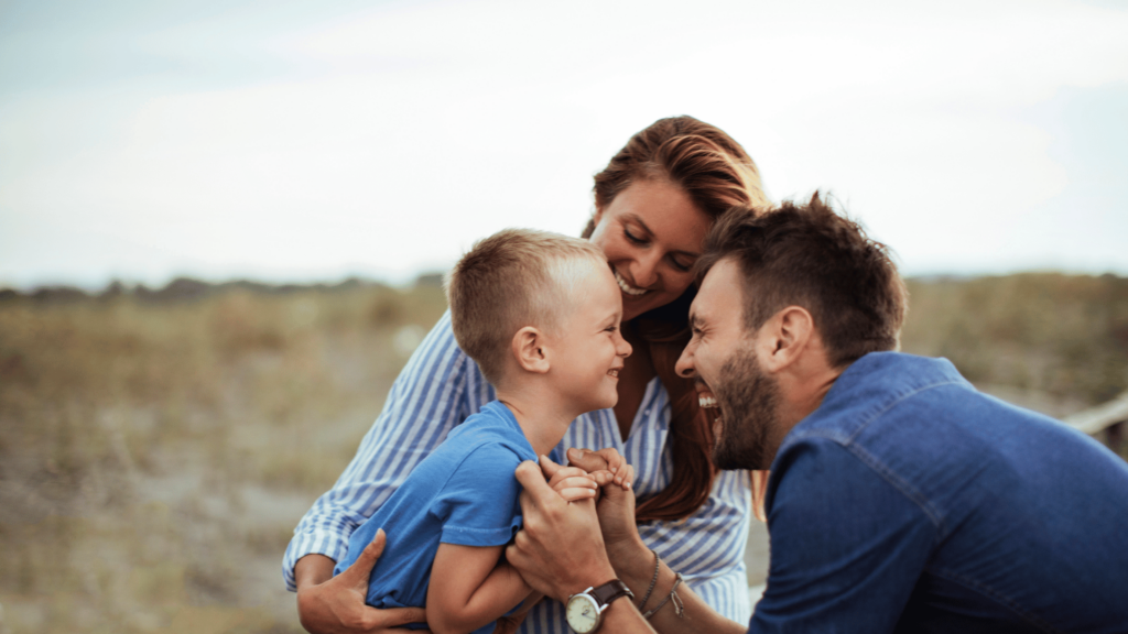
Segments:
[[[372,543],[337,576],[333,574],[333,560],[324,555],[306,555],[298,561],[298,617],[301,626],[312,634],[384,634],[412,632],[395,629],[406,623],[423,623],[423,608],[377,609],[364,604],[368,578],[376,561],[384,553],[384,529],[376,532]],[[317,557],[311,560],[311,557]],[[308,560],[308,561],[307,561]]]

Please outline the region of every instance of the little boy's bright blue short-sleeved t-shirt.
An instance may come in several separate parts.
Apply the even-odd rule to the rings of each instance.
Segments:
[[[512,412],[494,400],[451,430],[349,539],[340,574],[382,528],[384,555],[369,578],[377,608],[423,607],[439,544],[504,546],[521,528],[521,485],[513,470],[536,460]],[[477,629],[492,632],[493,624]]]

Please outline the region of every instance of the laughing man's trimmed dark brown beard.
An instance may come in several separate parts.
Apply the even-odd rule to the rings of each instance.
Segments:
[[[719,379],[710,386],[722,416],[713,464],[722,469],[769,468],[775,456],[768,455],[768,434],[779,426],[779,382],[760,369],[750,345],[724,362]]]

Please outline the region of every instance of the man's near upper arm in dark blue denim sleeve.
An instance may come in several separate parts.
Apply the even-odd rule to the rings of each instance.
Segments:
[[[892,632],[938,538],[919,496],[828,439],[775,466],[772,569],[752,632]]]

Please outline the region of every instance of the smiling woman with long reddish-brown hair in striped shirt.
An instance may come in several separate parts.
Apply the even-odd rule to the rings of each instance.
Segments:
[[[623,334],[634,353],[619,373],[618,405],[578,419],[557,449],[614,447],[624,455],[636,469],[643,540],[714,609],[747,622],[750,481],[744,472],[713,467],[712,426],[691,381],[673,366],[689,340],[690,268],[705,232],[732,206],[767,204],[759,174],[728,134],[680,116],[635,134],[596,175],[594,194],[596,213],[583,237],[602,248],[623,290]],[[407,362],[355,458],[306,513],[287,549],[284,576],[299,590],[308,629],[364,631],[334,623],[355,599],[315,589],[332,576],[352,530],[450,429],[492,398],[444,316]],[[523,628],[569,632],[563,606],[543,601]]]

